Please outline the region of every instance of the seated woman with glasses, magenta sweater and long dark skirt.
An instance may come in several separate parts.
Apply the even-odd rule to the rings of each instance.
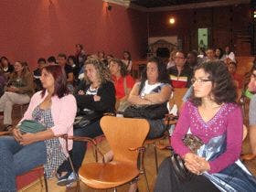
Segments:
[[[192,98],[185,103],[170,142],[194,175],[180,180],[168,157],[160,166],[155,191],[255,191],[255,178],[239,160],[242,113],[227,67],[221,61],[199,65],[192,85]],[[188,131],[204,143],[197,154],[183,143]]]

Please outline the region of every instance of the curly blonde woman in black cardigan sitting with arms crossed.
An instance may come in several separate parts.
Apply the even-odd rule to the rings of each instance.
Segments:
[[[84,63],[85,80],[81,81],[79,90],[75,97],[80,110],[90,110],[103,114],[114,112],[115,90],[111,81],[111,74],[99,59],[87,59]],[[88,83],[86,83],[88,81]],[[74,136],[85,136],[94,138],[102,134],[100,119],[84,127],[77,127]],[[84,142],[74,142],[73,150],[70,152],[75,172],[78,173],[83,157],[86,153]],[[72,173],[69,162],[64,162],[59,168],[59,186],[69,185],[76,179],[76,173]]]

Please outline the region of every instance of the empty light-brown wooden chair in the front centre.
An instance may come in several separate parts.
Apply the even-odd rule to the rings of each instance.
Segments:
[[[103,116],[101,129],[113,151],[113,160],[106,164],[82,165],[79,176],[89,187],[116,190],[116,187],[132,181],[140,174],[137,159],[143,150],[142,145],[149,131],[149,123],[144,119]],[[148,188],[147,179],[146,185]]]

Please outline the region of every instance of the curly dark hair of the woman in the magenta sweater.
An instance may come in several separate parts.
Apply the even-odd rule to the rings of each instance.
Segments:
[[[237,88],[223,61],[218,60],[202,63],[194,69],[194,73],[197,69],[204,69],[204,71],[209,74],[208,79],[211,80],[213,84],[211,93],[214,101],[218,104],[222,104],[224,102],[236,102],[238,97],[236,91]],[[201,98],[195,97],[194,91],[191,101],[196,106],[202,104]]]

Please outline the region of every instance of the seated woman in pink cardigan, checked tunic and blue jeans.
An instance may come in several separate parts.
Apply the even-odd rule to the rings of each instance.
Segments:
[[[44,89],[33,95],[21,122],[34,120],[48,129],[39,133],[20,133],[16,128],[13,130],[14,136],[0,138],[2,191],[16,191],[16,176],[38,165],[44,165],[48,177],[54,176],[69,155],[65,140],[54,137],[73,134],[76,100],[67,90],[66,74],[60,66],[44,67],[41,81]],[[71,150],[71,141],[68,147]]]

